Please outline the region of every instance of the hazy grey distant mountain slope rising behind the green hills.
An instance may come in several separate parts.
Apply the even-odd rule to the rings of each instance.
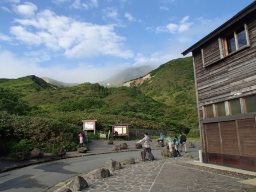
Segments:
[[[103,85],[105,87],[121,86],[123,82],[142,77],[143,75],[149,73],[151,70],[153,70],[153,67],[151,66],[129,68],[121,71],[109,79],[106,79],[105,81],[99,82],[99,85]]]

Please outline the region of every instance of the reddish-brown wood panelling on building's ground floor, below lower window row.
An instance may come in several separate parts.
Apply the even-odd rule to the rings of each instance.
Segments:
[[[256,171],[255,126],[255,118],[204,124],[206,162]]]

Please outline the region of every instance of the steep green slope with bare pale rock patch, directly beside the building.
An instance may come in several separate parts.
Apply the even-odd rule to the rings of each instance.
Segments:
[[[165,114],[170,120],[198,125],[192,57],[171,60],[123,86],[137,86],[148,97],[169,106]]]

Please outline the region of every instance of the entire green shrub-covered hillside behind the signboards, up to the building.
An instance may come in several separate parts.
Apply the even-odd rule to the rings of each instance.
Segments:
[[[10,151],[18,151],[21,142],[46,149],[53,140],[72,150],[82,120],[91,119],[97,119],[98,131],[130,123],[133,129],[198,134],[191,57],[167,62],[151,74],[139,87],[110,88],[98,83],[54,87],[34,75],[0,79],[1,142]]]

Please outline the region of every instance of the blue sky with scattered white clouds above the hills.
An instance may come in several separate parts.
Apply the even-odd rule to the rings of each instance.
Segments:
[[[0,78],[95,83],[129,67],[157,68],[252,2],[0,0]]]

